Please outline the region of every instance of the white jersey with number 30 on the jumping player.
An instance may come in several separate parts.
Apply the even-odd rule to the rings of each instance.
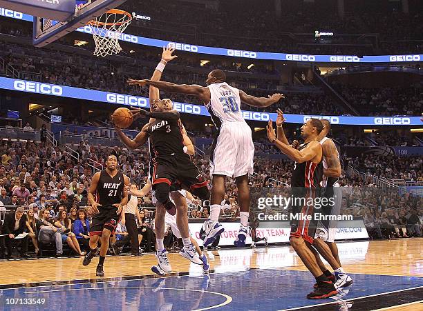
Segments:
[[[205,107],[209,110],[216,128],[227,122],[245,123],[237,88],[232,88],[226,82],[213,83],[207,88],[210,90],[210,102]]]

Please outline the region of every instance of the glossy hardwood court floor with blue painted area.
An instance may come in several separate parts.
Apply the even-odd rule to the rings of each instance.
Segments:
[[[339,243],[339,257],[343,263],[344,270],[352,274],[355,280],[355,284],[350,287],[349,292],[346,290],[344,297],[339,297],[339,300],[343,301],[344,304],[348,303],[348,301],[353,301],[353,310],[385,308],[386,301],[389,299],[393,302],[388,304],[388,309],[386,310],[423,310],[421,299],[415,299],[415,291],[418,291],[417,297],[419,297],[420,293],[423,294],[422,242],[423,239],[414,238]],[[3,297],[16,298],[21,297],[21,295],[25,297],[25,294],[31,294],[28,290],[33,290],[32,295],[49,291],[62,292],[63,294],[66,291],[66,297],[71,298],[71,295],[75,294],[77,290],[79,291],[77,292],[78,294],[82,294],[84,288],[77,289],[77,286],[86,286],[84,292],[92,293],[96,291],[97,295],[101,295],[98,286],[104,286],[107,290],[113,290],[113,287],[126,288],[126,296],[122,298],[122,301],[129,301],[131,289],[148,290],[149,288],[155,288],[157,284],[154,281],[161,280],[160,282],[166,281],[166,288],[163,288],[163,290],[190,288],[190,284],[199,282],[196,289],[202,289],[205,297],[204,299],[198,299],[197,306],[192,307],[192,309],[198,309],[201,306],[202,308],[208,308],[209,305],[207,306],[207,303],[219,305],[219,303],[222,303],[219,299],[225,296],[231,297],[233,302],[229,303],[229,298],[227,298],[227,301],[229,301],[225,302],[227,305],[220,306],[218,310],[295,310],[298,308],[307,310],[307,308],[312,307],[322,308],[313,310],[332,310],[326,308],[329,307],[328,303],[330,305],[334,303],[331,299],[312,301],[310,304],[310,301],[304,298],[305,294],[310,291],[308,288],[310,286],[308,285],[312,285],[313,279],[311,274],[306,272],[306,268],[297,257],[297,254],[288,245],[269,248],[261,246],[256,249],[228,249],[218,252],[209,251],[207,252],[207,257],[209,257],[209,262],[211,263],[211,286],[207,285],[209,280],[203,280],[201,266],[191,264],[180,257],[179,254],[169,254],[173,273],[170,274],[170,278],[167,277],[164,280],[156,277],[151,279],[151,274],[153,274],[150,270],[151,265],[156,264],[156,258],[153,254],[145,254],[141,257],[106,257],[104,265],[105,278],[95,277],[97,258],[93,259],[93,263],[88,265],[88,267],[82,265],[82,257],[1,261],[0,285],[5,290],[0,293],[0,296],[3,294]],[[100,280],[106,282],[100,282],[103,285],[99,285],[98,281]],[[248,282],[245,283],[245,281]],[[85,284],[77,285],[82,283]],[[205,283],[207,283],[207,286],[202,288]],[[250,285],[250,283],[254,285]],[[60,284],[76,285],[66,285],[68,287],[64,289],[60,287]],[[238,284],[246,287],[240,290]],[[286,290],[281,292],[281,284],[292,287],[291,292]],[[91,286],[95,288],[91,288]],[[7,288],[15,288],[15,292],[8,292]],[[199,292],[196,289],[187,289],[187,291],[191,291],[191,293]],[[21,290],[26,290],[27,292],[21,292]],[[251,295],[244,297],[243,295],[248,290],[256,292],[258,298],[251,297]],[[420,292],[420,290],[422,291]],[[49,294],[51,294],[50,292]],[[390,297],[380,296],[381,293],[385,292],[393,294],[390,294]],[[206,297],[207,295],[214,295],[214,297]],[[170,299],[169,297],[171,296],[165,297]],[[174,301],[171,301],[173,308],[176,308],[177,303],[184,299],[183,297],[177,299],[177,296],[173,294]],[[260,302],[257,299],[261,296],[263,298],[266,297],[267,305],[261,305],[261,308],[259,308]],[[369,296],[370,305],[364,299]],[[48,297],[50,297],[50,301],[56,301],[53,296],[50,295]],[[198,297],[198,294],[194,295],[194,297]],[[203,297],[203,294],[201,294],[201,297]],[[98,296],[98,299],[102,298]],[[134,300],[137,301],[137,299]],[[374,305],[371,304],[373,302],[375,302]],[[148,303],[148,300],[142,300],[141,303],[144,304],[140,305],[140,302],[138,302],[137,308],[152,308],[151,305],[145,304]],[[244,303],[244,305],[240,303]],[[323,305],[320,305],[321,303]],[[217,308],[216,305],[213,308]],[[397,305],[397,307],[392,308],[393,305]],[[120,307],[118,308],[120,309]],[[185,309],[183,305],[180,308]],[[187,307],[187,310],[191,310],[190,308]],[[383,308],[381,310],[385,310]],[[203,309],[200,308],[198,310]]]

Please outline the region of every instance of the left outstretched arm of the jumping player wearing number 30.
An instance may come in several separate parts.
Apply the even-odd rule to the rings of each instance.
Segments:
[[[175,84],[166,81],[151,81],[151,80],[133,80],[129,79],[128,83],[130,86],[154,86],[159,90],[165,92],[180,93],[194,95],[201,99],[204,103],[210,101],[210,90],[204,86],[198,86],[196,84]]]

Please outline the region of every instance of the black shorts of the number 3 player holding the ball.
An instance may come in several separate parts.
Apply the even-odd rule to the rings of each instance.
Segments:
[[[154,158],[151,163],[151,184],[180,184],[189,190],[204,187],[207,181],[187,154]]]

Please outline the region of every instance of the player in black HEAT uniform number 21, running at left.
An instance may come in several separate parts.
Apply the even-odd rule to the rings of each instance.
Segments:
[[[103,265],[109,249],[110,236],[120,220],[122,206],[128,203],[129,178],[118,170],[118,157],[109,155],[106,169],[94,174],[88,190],[88,202],[93,208],[93,224],[90,228],[90,252],[86,254],[83,265],[89,265],[97,254],[100,240],[100,261],[95,275],[104,277]]]

